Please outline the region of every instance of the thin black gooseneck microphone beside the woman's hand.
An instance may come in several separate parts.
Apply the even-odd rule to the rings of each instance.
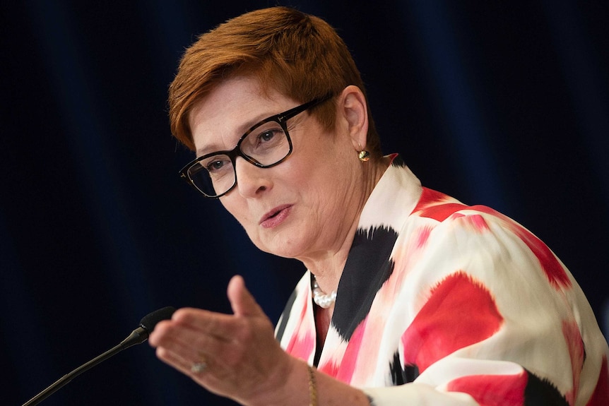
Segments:
[[[175,309],[172,306],[167,306],[163,307],[162,309],[155,310],[152,313],[144,316],[141,319],[138,328],[131,331],[131,334],[129,334],[127,338],[122,340],[119,345],[115,345],[110,350],[107,350],[103,354],[91,359],[86,364],[78,366],[78,368],[74,369],[69,374],[62,376],[51,386],[49,386],[45,390],[42,390],[42,392],[38,393],[33,398],[28,400],[28,402],[25,402],[23,406],[37,405],[38,403],[42,402],[42,400],[45,400],[50,395],[57,392],[59,388],[64,387],[66,383],[69,383],[69,381],[71,381],[73,378],[76,378],[76,376],[82,374],[84,371],[88,371],[88,369],[93,368],[93,366],[100,364],[100,362],[105,361],[106,359],[112,357],[114,354],[117,354],[126,348],[129,348],[136,344],[141,344],[142,342],[148,340],[148,335],[150,335],[150,332],[154,330],[157,323],[159,321],[171,318],[171,315],[174,311]]]

